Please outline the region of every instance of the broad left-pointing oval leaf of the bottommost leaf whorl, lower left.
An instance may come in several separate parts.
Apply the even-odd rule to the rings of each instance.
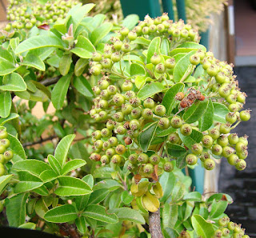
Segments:
[[[65,204],[56,208],[50,209],[46,212],[44,219],[54,223],[64,223],[74,221],[78,218],[75,208],[71,204]]]

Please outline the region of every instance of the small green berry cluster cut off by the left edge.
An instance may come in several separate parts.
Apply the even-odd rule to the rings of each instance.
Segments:
[[[5,127],[0,129],[0,176],[6,173],[4,164],[14,157],[14,153],[9,149],[10,141],[7,139],[8,133]]]

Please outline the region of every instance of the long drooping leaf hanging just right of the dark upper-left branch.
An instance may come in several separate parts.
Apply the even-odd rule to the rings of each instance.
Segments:
[[[62,108],[67,90],[69,89],[69,86],[70,86],[70,80],[72,75],[73,75],[72,73],[69,73],[66,76],[62,76],[58,80],[57,84],[54,85],[54,89],[51,93],[51,101],[55,109]]]

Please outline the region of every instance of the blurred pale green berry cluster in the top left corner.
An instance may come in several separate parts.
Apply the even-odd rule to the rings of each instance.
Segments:
[[[56,22],[66,17],[68,11],[78,4],[77,1],[58,0],[40,4],[37,1],[14,1],[10,0],[7,9],[7,19],[10,21],[5,30],[27,29],[33,26]]]

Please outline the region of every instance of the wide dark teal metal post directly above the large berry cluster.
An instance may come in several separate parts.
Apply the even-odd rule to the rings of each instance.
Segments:
[[[126,17],[129,14],[138,14],[139,19],[144,20],[146,14],[151,18],[162,15],[158,0],[120,0],[122,14]]]

